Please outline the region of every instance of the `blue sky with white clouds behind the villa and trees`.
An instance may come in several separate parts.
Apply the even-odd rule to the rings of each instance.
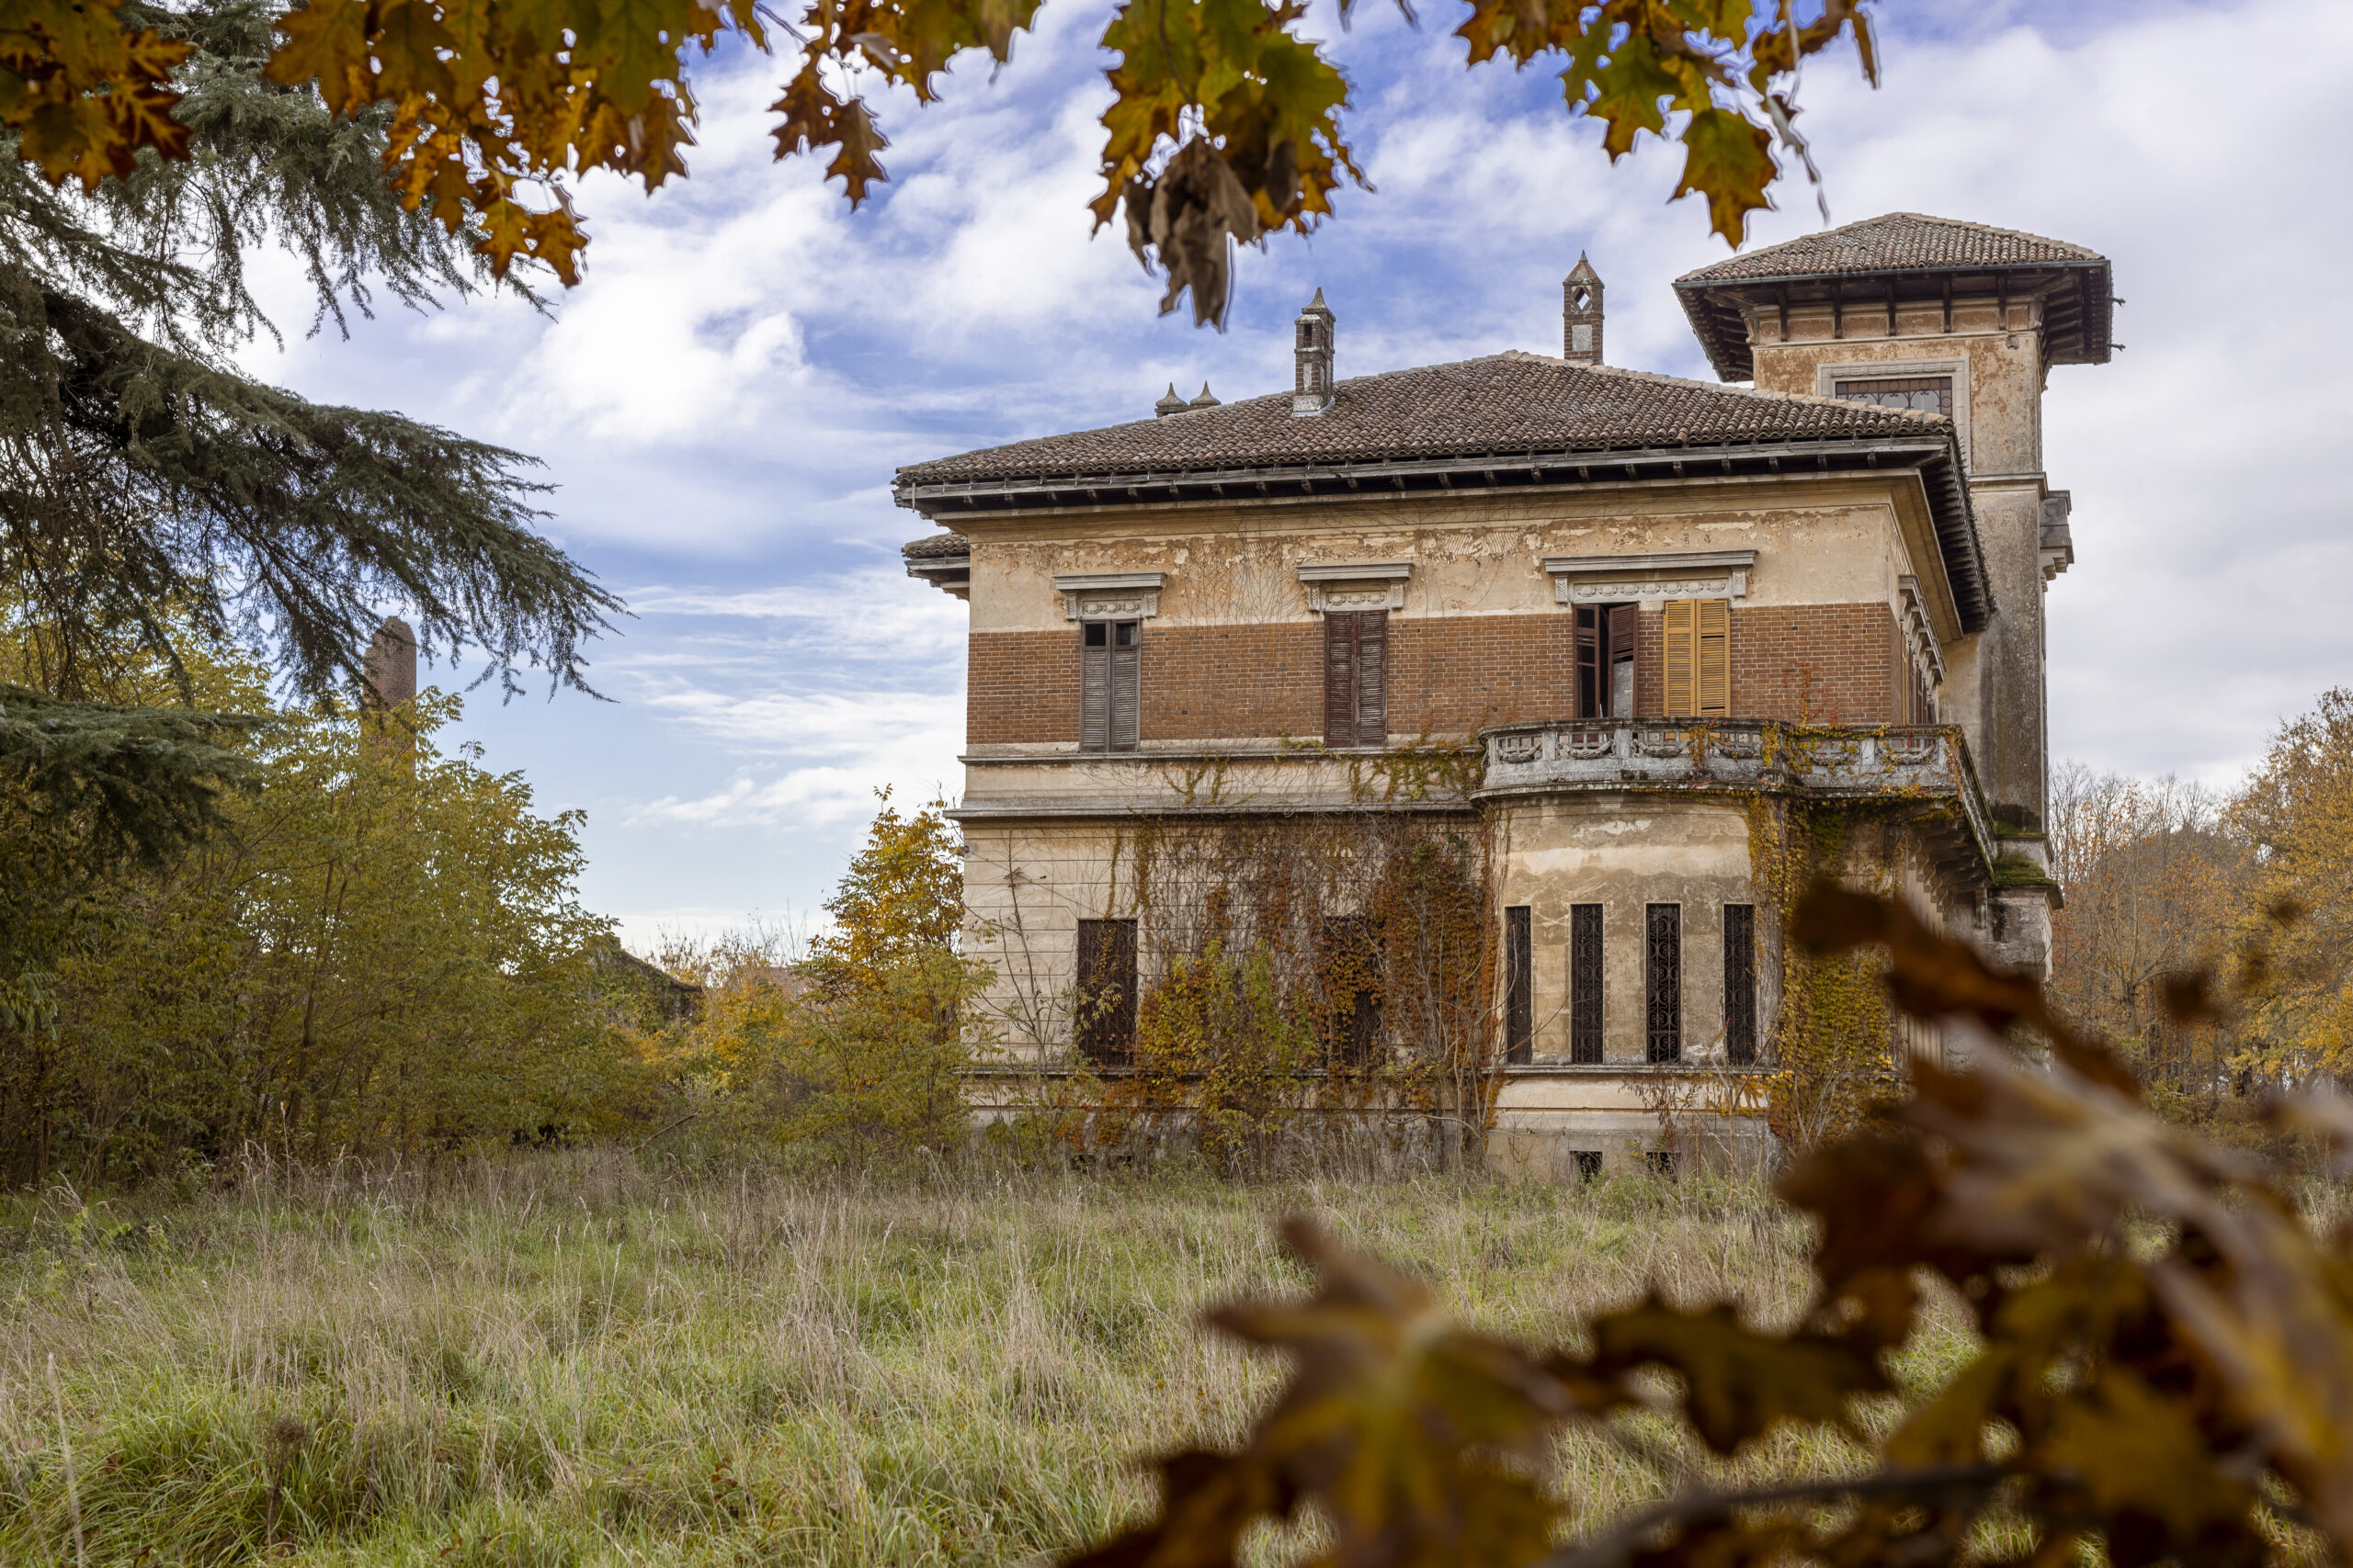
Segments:
[[[2057,367],[2052,487],[2075,569],[2049,588],[2052,752],[2231,785],[2282,717],[2353,679],[2353,465],[2339,339],[2353,256],[2337,146],[2353,5],[2308,0],[1889,0],[1882,87],[1849,49],[1802,80],[1833,221],[1929,212],[2089,244],[2122,341]],[[607,701],[468,698],[464,738],[581,809],[584,900],[640,950],[664,933],[809,929],[875,790],[955,795],[965,607],[904,576],[929,529],[894,468],[1141,418],[1176,383],[1289,386],[1289,320],[1320,287],[1339,374],[1560,350],[1560,277],[1607,284],[1609,360],[1708,378],[1671,280],[1725,256],[1680,153],[1612,167],[1548,68],[1464,68],[1449,5],[1367,0],[1341,28],[1344,127],[1374,190],[1242,252],[1228,331],[1155,315],[1160,284],[1087,200],[1108,7],[1052,0],[991,80],[880,94],[892,183],[852,214],[807,158],[772,160],[784,68],[696,75],[692,176],[576,188],[584,282],[384,310],[247,369],[322,402],[398,409],[534,454],[548,534],[619,592],[591,649]],[[2226,75],[2228,73],[2228,75]],[[1821,228],[1784,183],[1748,244]],[[426,670],[466,684],[478,665]]]

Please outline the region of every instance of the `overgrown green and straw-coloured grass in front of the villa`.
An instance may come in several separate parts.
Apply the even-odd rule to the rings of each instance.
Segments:
[[[1278,1363],[1195,1314],[1297,1288],[1271,1222],[1301,1208],[1529,1340],[1652,1284],[1786,1321],[1807,1284],[1802,1220],[1753,1185],[861,1187],[586,1150],[259,1171],[186,1201],[52,1192],[0,1208],[0,1561],[1071,1547],[1146,1502],[1136,1455],[1231,1439],[1271,1392]],[[1941,1331],[1913,1371],[1960,1354]],[[1584,1519],[1689,1479],[1689,1448],[1638,1436],[1562,1446]],[[1760,1462],[1838,1458],[1786,1436]]]

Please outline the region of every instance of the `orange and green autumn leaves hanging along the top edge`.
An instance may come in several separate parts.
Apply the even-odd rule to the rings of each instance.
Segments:
[[[885,179],[889,146],[866,82],[939,96],[965,54],[1002,66],[1040,0],[807,0],[779,16],[758,0],[304,0],[278,16],[275,82],[388,129],[384,172],[409,212],[506,275],[546,263],[567,284],[586,244],[565,181],[588,169],[647,190],[687,172],[696,99],[689,61],[722,38],[781,49],[776,158],[828,158],[849,205]],[[1602,122],[1612,160],[1642,134],[1682,146],[1675,195],[1706,200],[1739,244],[1769,205],[1774,155],[1812,174],[1798,115],[1800,63],[1852,40],[1878,82],[1871,0],[1468,0],[1449,16],[1468,63],[1558,68],[1572,115]],[[85,183],[186,158],[188,40],[174,12],[139,2],[21,0],[0,49],[0,125],[49,181]],[[1400,0],[1407,19],[1414,7]],[[1351,0],[1339,0],[1346,21]],[[1136,259],[1167,273],[1162,313],[1191,292],[1195,322],[1224,322],[1231,242],[1311,233],[1344,186],[1365,186],[1341,125],[1348,80],[1301,35],[1299,0],[1120,0],[1104,26],[1096,226],[1120,223]]]

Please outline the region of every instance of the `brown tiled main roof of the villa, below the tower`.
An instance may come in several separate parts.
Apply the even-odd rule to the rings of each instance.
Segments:
[[[906,503],[915,487],[979,480],[1937,437],[1948,428],[1937,414],[1501,353],[1341,381],[1313,418],[1297,418],[1292,395],[1280,393],[913,463],[899,470],[899,494]]]

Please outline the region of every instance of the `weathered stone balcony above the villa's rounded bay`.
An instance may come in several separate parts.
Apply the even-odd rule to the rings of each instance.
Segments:
[[[1991,872],[1993,825],[1958,729],[1887,724],[1824,729],[1727,719],[1584,719],[1506,724],[1480,733],[1482,802],[1513,795],[1668,790],[1918,802],[1953,818],[1955,858]]]

